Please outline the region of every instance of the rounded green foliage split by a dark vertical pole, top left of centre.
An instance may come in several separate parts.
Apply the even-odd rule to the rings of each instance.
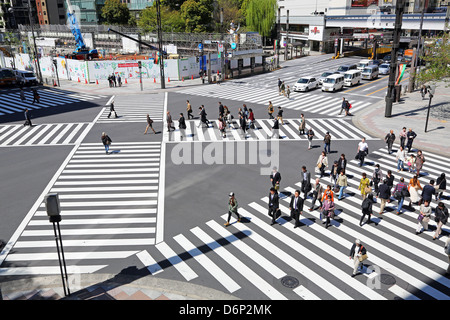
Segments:
[[[138,26],[144,29],[145,32],[156,32],[156,6],[142,10]],[[161,29],[163,32],[183,32],[185,22],[181,17],[181,12],[171,10],[169,6],[161,6]]]

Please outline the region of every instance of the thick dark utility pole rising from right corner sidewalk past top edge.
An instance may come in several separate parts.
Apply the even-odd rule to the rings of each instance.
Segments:
[[[398,49],[400,46],[400,35],[402,31],[402,19],[403,19],[403,11],[404,11],[405,0],[397,0],[395,6],[395,25],[394,25],[394,34],[392,41],[392,49],[391,49],[391,63],[389,65],[389,80],[388,80],[388,88],[385,97],[386,108],[384,112],[384,116],[386,118],[391,117],[392,115],[392,104],[395,100],[395,77],[397,74],[397,55]]]

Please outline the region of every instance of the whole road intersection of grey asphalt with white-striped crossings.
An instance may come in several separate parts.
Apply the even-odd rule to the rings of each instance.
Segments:
[[[357,57],[306,57],[286,62],[273,73],[221,85],[174,88],[156,94],[124,92],[115,98],[117,119],[107,118],[110,95],[106,93],[43,89],[50,91],[49,99],[61,95],[61,104],[42,100],[47,103],[45,110],[33,110],[36,125],[32,128],[22,125],[24,106],[17,104],[15,111],[5,104],[1,111],[4,118],[0,117],[0,153],[4,155],[0,161],[6,168],[2,169],[4,188],[11,190],[7,193],[10,198],[1,202],[13,204],[2,205],[2,214],[15,215],[15,219],[6,219],[0,229],[5,243],[0,277],[59,274],[43,204],[45,194],[57,192],[70,274],[125,272],[201,285],[250,300],[449,299],[450,281],[444,275],[448,263],[443,255],[446,237],[433,241],[434,232],[415,235],[418,206],[404,206],[403,213],[396,215],[394,201],[387,213],[373,215],[374,223],[359,226],[362,199],[358,186],[363,172],[370,176],[378,163],[384,173],[392,170],[395,184],[400,177],[405,181],[412,177],[412,173],[397,172],[395,155],[386,153],[384,141],[364,132],[350,117],[339,115],[342,97],[352,103],[355,114],[382,100],[386,77],[335,94],[320,89],[292,92],[289,100],[278,94],[278,78],[292,87],[301,76],[317,77],[349,61],[356,62]],[[6,101],[13,95],[2,93],[0,99]],[[88,108],[83,98],[90,99]],[[198,128],[198,118],[186,121],[186,139],[181,140],[179,130],[166,132],[165,113],[170,111],[178,128],[179,113],[186,115],[186,100],[196,117],[198,106],[204,104],[212,124]],[[227,105],[235,118],[237,109],[247,104],[255,112],[256,129],[245,137],[235,121],[223,139],[216,121],[218,101]],[[281,139],[276,142],[270,139],[273,121],[268,120],[268,101],[285,111],[286,124],[280,125]],[[143,134],[147,113],[155,121],[156,135]],[[316,133],[312,150],[307,150],[307,139],[297,129],[300,113],[305,114],[307,128]],[[332,136],[328,162],[332,164],[341,153],[348,159],[346,198],[336,203],[336,218],[332,227],[325,229],[317,207],[307,210],[312,200],[308,197],[301,227],[294,229],[289,196],[300,188],[302,165],[311,172],[312,182],[319,177],[314,168],[327,131]],[[113,141],[110,154],[105,154],[101,144],[102,132]],[[354,155],[362,137],[368,140],[370,153],[366,164],[359,167]],[[276,156],[282,175],[278,224],[270,226],[267,215],[270,181],[268,175],[260,173],[267,163],[241,161],[236,152],[230,162],[179,164],[173,155],[181,144],[193,145],[194,152],[204,152],[209,146],[226,150],[225,146],[233,145],[238,151],[245,150],[245,157],[250,156],[247,152],[253,144],[259,151]],[[42,148],[51,148],[52,155]],[[195,159],[195,154],[191,156]],[[17,160],[26,157],[37,160],[26,162],[24,176],[12,177],[21,172]],[[46,162],[38,160],[46,157]],[[443,156],[427,152],[426,157],[422,185],[450,171]],[[40,173],[43,167],[45,172]],[[5,183],[8,180],[14,183]],[[327,185],[330,177],[320,181]],[[20,195],[24,184],[38,190],[29,197]],[[236,194],[239,213],[245,219],[243,223],[232,220],[225,228],[230,192]],[[449,205],[448,193],[444,195],[443,202]],[[379,201],[374,204],[375,212],[377,208]],[[434,228],[433,220],[430,226]],[[448,233],[444,227],[443,234]],[[369,259],[362,274],[352,278],[348,253],[356,238],[368,248]],[[285,287],[281,280],[286,276],[296,278],[298,286]],[[394,281],[381,281],[388,277]]]

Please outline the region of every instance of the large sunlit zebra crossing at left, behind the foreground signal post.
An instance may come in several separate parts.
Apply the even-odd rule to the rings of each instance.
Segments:
[[[51,187],[61,204],[70,274],[92,273],[155,244],[160,142],[82,143]],[[0,275],[58,274],[54,233],[42,202]]]

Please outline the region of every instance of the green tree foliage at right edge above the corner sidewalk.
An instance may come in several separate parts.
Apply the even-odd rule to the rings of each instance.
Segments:
[[[450,81],[450,38],[449,33],[433,39],[421,57],[425,63],[425,70],[421,70],[417,80],[422,83]]]

